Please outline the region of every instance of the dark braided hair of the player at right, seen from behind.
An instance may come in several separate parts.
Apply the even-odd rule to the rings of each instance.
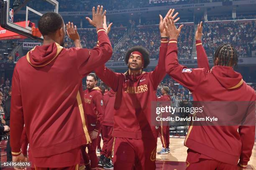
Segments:
[[[237,67],[238,54],[233,45],[222,44],[218,46],[214,53],[213,61],[218,58],[218,65],[221,66],[234,66]]]

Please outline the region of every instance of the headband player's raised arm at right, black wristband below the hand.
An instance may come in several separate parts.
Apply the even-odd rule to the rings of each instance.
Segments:
[[[165,56],[166,56],[166,52],[167,52],[167,47],[168,47],[168,38],[169,35],[167,34],[165,28],[164,28],[164,23],[165,23],[165,19],[166,18],[176,18],[177,15],[179,13],[174,13],[174,9],[170,9],[168,11],[168,13],[166,14],[166,16],[162,17],[162,15],[159,15],[160,17],[160,23],[159,23],[159,30],[160,30],[160,35],[161,35],[161,45],[160,45],[160,50],[159,50],[159,60],[158,60],[158,64],[156,66],[156,68],[154,69],[154,71],[151,73],[151,80],[154,84],[154,88],[157,89],[157,86],[159,85],[159,83],[164,79],[165,75],[166,75],[166,71],[164,68],[165,65]],[[174,23],[176,23],[179,20],[179,18],[177,18],[176,20],[174,20]]]

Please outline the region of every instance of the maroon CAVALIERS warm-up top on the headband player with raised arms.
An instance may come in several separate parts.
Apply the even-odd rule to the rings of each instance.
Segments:
[[[159,62],[154,71],[133,77],[128,72],[115,73],[106,67],[95,70],[100,79],[116,92],[113,137],[158,137],[156,125],[151,123],[151,102],[157,101],[157,87],[166,75],[167,45],[167,40],[161,42]]]

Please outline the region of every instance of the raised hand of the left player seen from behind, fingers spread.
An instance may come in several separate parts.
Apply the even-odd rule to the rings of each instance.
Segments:
[[[89,23],[91,25],[93,25],[94,27],[98,28],[103,28],[103,21],[104,21],[104,16],[106,15],[106,10],[104,11],[104,13],[102,13],[103,11],[103,6],[100,7],[100,5],[97,6],[97,11],[95,13],[95,7],[92,8],[92,20],[88,17],[86,17],[85,19],[87,19],[89,21]]]

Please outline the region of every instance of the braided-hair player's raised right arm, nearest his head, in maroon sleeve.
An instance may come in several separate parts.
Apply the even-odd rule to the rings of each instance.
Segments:
[[[197,48],[197,67],[206,68],[207,70],[210,70],[208,58],[205,53],[205,49],[202,46],[201,38],[202,38],[202,21],[200,22],[200,24],[197,25],[197,31],[195,35],[196,48]]]

